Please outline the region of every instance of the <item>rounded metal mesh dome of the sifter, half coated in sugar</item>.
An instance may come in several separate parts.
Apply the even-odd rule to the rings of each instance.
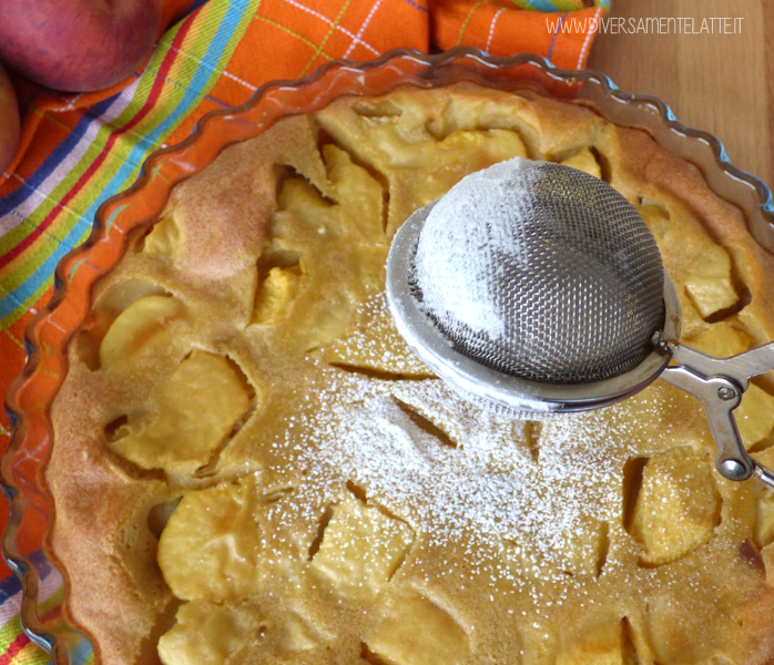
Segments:
[[[663,324],[663,264],[636,209],[548,162],[511,160],[454,187],[425,222],[413,283],[458,352],[533,381],[620,376]]]

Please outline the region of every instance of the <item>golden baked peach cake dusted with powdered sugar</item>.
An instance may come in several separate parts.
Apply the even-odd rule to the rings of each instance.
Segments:
[[[639,208],[684,341],[774,338],[774,259],[642,131],[472,84],[283,120],[174,190],[69,347],[51,548],[103,663],[774,658],[774,494],[714,472],[693,398],[513,421],[395,331],[396,228],[518,155]],[[737,420],[766,462],[771,378]]]

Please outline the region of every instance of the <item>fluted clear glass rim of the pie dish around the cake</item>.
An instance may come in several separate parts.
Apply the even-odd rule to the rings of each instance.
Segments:
[[[49,529],[41,533],[39,528],[41,516],[45,526],[55,519],[43,479],[54,444],[50,408],[68,371],[67,345],[86,320],[96,282],[122,258],[131,238],[160,218],[174,185],[201,172],[226,146],[344,95],[380,95],[399,85],[430,89],[461,81],[506,91],[537,89],[587,105],[617,125],[644,129],[670,153],[697,166],[719,196],[744,212],[757,243],[774,252],[771,191],[733,166],[716,137],[685,127],[655,98],[619,91],[604,74],[559,70],[536,55],[490,58],[468,48],[437,55],[391,51],[363,64],[332,62],[301,81],[268,83],[244,105],[210,113],[190,139],[151,155],[139,181],[100,208],[90,238],[60,263],[51,303],[26,334],[28,365],[7,398],[13,438],[2,461],[2,483],[11,499],[3,555],[22,579],[24,631],[57,665],[83,662],[91,645],[67,620],[67,576],[51,553]],[[20,546],[22,540],[35,542],[33,552]]]

